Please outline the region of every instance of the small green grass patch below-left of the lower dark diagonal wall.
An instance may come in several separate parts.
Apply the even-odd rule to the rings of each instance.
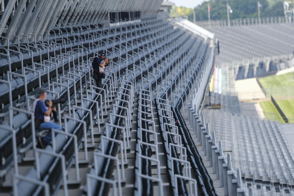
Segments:
[[[259,102],[260,107],[263,110],[264,116],[268,120],[277,120],[279,123],[285,123],[281,115],[277,111],[276,107],[271,101],[261,101]]]

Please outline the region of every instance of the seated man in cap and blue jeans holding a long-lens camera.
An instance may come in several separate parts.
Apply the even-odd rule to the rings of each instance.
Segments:
[[[62,130],[62,127],[56,123],[50,122],[50,114],[52,111],[56,112],[56,108],[52,107],[52,101],[49,100],[46,102],[48,107],[45,106],[43,102],[44,98],[47,95],[47,91],[44,88],[39,88],[37,90],[36,97],[37,99],[31,106],[31,112],[34,112],[36,124],[40,123],[39,129],[56,129]],[[55,113],[54,112],[54,113]],[[56,113],[54,114],[54,119],[57,119]],[[39,123],[38,123],[39,122]],[[37,128],[37,127],[36,127]],[[41,148],[46,148],[48,144],[52,141],[51,131],[49,131],[44,137],[38,139],[39,145]]]

